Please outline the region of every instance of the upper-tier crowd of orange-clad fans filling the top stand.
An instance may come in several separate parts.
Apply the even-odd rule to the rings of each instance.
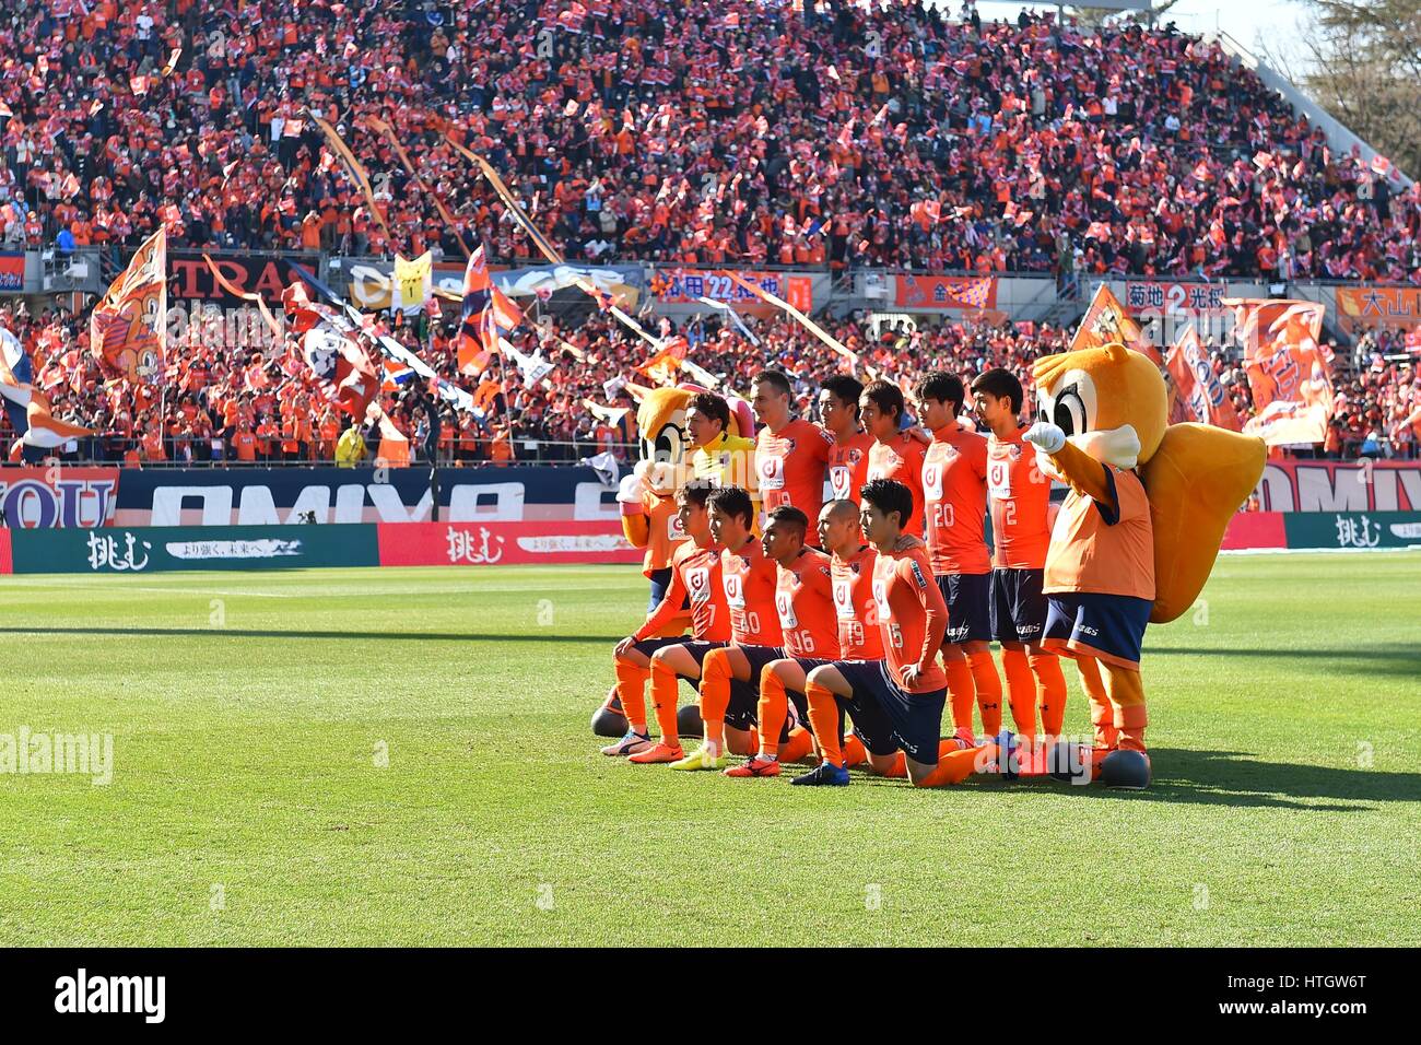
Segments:
[[[1421,277],[1421,191],[1172,26],[806,7],[7,4],[3,239],[534,256],[448,132],[578,259]]]

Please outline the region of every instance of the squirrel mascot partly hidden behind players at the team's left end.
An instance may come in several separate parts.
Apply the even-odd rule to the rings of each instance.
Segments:
[[[686,436],[686,404],[698,385],[676,388],[644,388],[628,384],[627,391],[637,400],[637,444],[639,459],[631,473],[624,476],[617,489],[621,506],[622,535],[632,547],[647,549],[642,560],[642,574],[651,582],[648,613],[661,601],[671,583],[671,557],[686,539],[676,520],[676,491],[691,475],[691,445]],[[749,405],[742,400],[729,398],[730,435],[752,435],[755,419]],[[691,611],[674,618],[659,637],[674,637],[685,633],[691,623]],[[701,714],[695,705],[686,705],[679,715],[681,735],[701,735]],[[618,738],[627,732],[627,718],[622,715],[617,687],[593,714],[593,734]]]

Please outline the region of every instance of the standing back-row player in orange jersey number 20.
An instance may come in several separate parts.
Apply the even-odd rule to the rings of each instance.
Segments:
[[[952,374],[936,371],[914,387],[919,421],[932,432],[922,461],[922,498],[928,559],[948,603],[942,663],[948,671],[952,724],[972,739],[972,704],[982,729],[1002,728],[1002,680],[992,661],[992,562],[982,520],[986,518],[986,438],[958,424],[965,391]]]

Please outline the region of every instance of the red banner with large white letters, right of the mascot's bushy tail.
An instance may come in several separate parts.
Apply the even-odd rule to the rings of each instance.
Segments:
[[[1421,462],[1270,461],[1256,492],[1265,512],[1421,512]]]

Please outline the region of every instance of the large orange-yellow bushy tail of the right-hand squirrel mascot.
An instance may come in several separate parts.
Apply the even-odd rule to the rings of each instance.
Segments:
[[[1140,469],[1150,495],[1155,545],[1154,624],[1168,624],[1204,590],[1223,530],[1263,476],[1262,439],[1211,425],[1165,429],[1160,449]]]

